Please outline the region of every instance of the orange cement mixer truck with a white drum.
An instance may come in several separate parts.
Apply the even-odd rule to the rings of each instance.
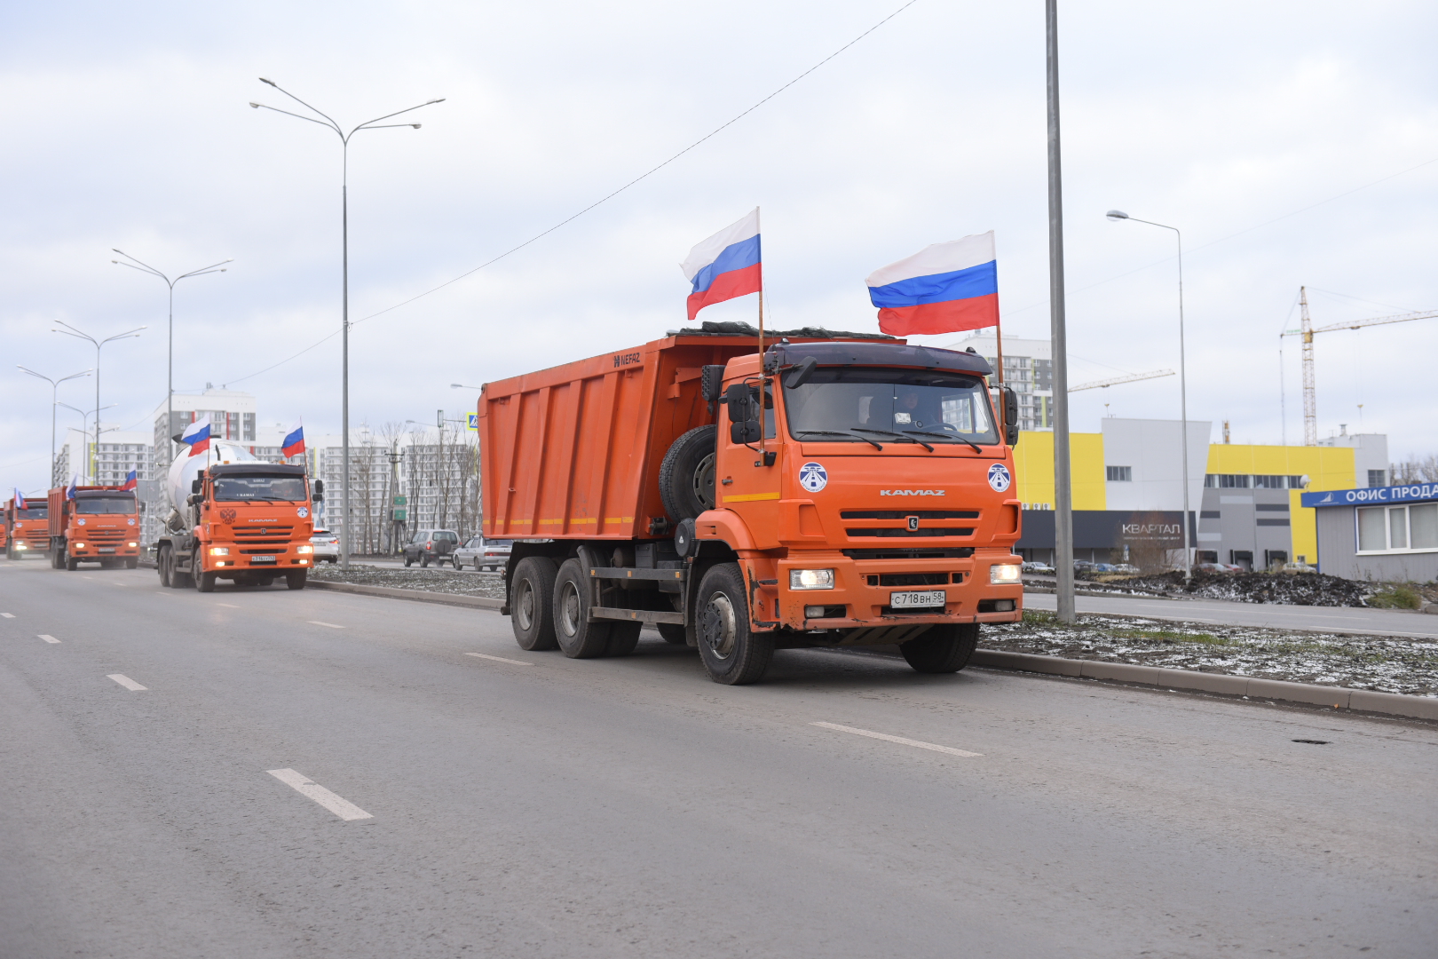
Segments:
[[[303,589],[313,565],[313,503],[324,485],[303,466],[265,463],[244,447],[217,441],[207,454],[181,451],[170,466],[170,515],[155,543],[160,582],[214,591],[217,579]]]

